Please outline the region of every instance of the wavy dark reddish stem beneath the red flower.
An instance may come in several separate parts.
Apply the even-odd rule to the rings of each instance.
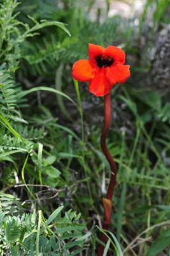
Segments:
[[[103,229],[108,230],[110,223],[111,223],[111,200],[113,196],[113,191],[115,189],[115,183],[117,178],[117,166],[113,157],[111,156],[107,145],[106,145],[106,138],[108,135],[108,131],[110,129],[110,122],[111,122],[111,95],[110,93],[104,96],[104,127],[101,134],[101,149],[108,160],[111,168],[111,177],[110,177],[110,184],[108,186],[108,192],[106,195],[106,199],[104,201],[109,202],[110,204],[104,204],[104,223]],[[106,243],[107,237],[102,233],[101,234],[101,241]],[[97,256],[102,256],[104,252],[104,246],[99,244],[99,248],[97,251]]]

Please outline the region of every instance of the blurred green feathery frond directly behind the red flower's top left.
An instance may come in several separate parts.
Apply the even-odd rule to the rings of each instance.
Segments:
[[[77,17],[78,19],[78,17]],[[27,70],[35,76],[36,74],[45,74],[48,70],[56,68],[58,63],[73,63],[81,58],[88,58],[89,42],[99,45],[110,45],[118,39],[118,26],[120,19],[115,17],[110,22],[91,22],[84,20],[83,26],[77,22],[77,35],[71,38],[64,38],[59,41],[58,36],[44,36],[43,42],[32,45],[23,44],[22,60],[26,60]],[[31,47],[28,47],[31,46]],[[29,65],[27,65],[29,64]],[[22,65],[25,70],[25,65]]]

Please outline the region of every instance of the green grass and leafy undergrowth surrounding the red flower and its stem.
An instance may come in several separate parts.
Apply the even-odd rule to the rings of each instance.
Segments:
[[[0,1],[0,255],[96,255],[103,99],[71,77],[89,42],[121,46],[131,65],[111,92],[118,175],[104,255],[169,255],[169,1],[146,1],[137,25],[108,17],[110,1],[92,21],[96,1],[79,2]]]

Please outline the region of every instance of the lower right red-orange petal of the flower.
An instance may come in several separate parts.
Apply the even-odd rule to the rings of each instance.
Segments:
[[[116,65],[106,68],[106,77],[111,84],[125,83],[125,80],[130,76],[129,65]]]

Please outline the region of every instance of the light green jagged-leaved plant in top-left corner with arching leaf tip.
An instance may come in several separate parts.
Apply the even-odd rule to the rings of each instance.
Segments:
[[[15,0],[4,0],[1,4],[0,10],[0,60],[1,62],[7,61],[11,72],[15,72],[18,68],[20,60],[20,45],[26,38],[39,35],[39,29],[48,26],[57,26],[63,29],[68,35],[69,31],[66,29],[66,24],[58,21],[41,20],[38,22],[33,17],[29,16],[33,26],[28,23],[20,22],[17,20],[19,13],[13,12],[18,4]],[[5,48],[3,47],[5,45]]]

